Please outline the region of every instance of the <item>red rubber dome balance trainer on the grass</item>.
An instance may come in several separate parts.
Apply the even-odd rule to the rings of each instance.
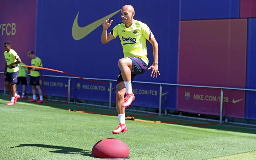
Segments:
[[[98,158],[130,158],[129,147],[122,141],[106,138],[98,141],[92,148],[92,156]]]

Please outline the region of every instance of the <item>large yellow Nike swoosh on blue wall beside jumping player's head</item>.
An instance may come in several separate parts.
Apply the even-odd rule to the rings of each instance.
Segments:
[[[78,14],[76,15],[76,18],[74,20],[73,26],[72,26],[72,36],[75,40],[80,40],[82,38],[84,38],[85,36],[87,36],[89,33],[91,33],[94,29],[98,28],[103,22],[104,20],[108,20],[109,18],[111,18],[112,16],[114,16],[117,12],[120,12],[120,10],[117,10],[116,12],[113,12],[103,18],[101,18],[100,20],[96,20],[95,22],[92,22],[91,24],[85,26],[85,27],[79,27],[78,23],[77,23],[77,18],[78,18]]]

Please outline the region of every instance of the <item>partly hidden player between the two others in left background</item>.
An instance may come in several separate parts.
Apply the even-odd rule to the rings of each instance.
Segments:
[[[18,85],[21,83],[22,85],[22,95],[21,99],[27,99],[26,93],[26,86],[27,86],[27,79],[28,79],[28,67],[23,67],[21,65],[26,65],[25,63],[21,62],[19,64],[19,74],[18,74],[18,82],[16,83],[16,93],[18,94]]]

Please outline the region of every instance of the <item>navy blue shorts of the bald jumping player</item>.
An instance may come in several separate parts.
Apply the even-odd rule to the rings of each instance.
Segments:
[[[132,60],[131,80],[133,81],[135,76],[140,75],[147,70],[148,65],[139,57],[129,57],[129,58]],[[123,80],[123,77],[120,72],[118,74],[116,84],[118,84],[119,82],[122,82],[122,81],[124,81],[124,80]]]

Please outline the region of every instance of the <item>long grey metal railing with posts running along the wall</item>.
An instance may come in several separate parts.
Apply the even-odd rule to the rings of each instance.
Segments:
[[[0,72],[3,73],[3,72]],[[71,79],[80,79],[78,77],[71,77],[71,76],[53,76],[53,75],[43,75],[48,77],[60,77],[60,78],[68,78],[68,103],[70,100],[70,81]],[[103,79],[103,78],[87,78],[85,79],[90,80],[101,80],[101,81],[108,81],[109,82],[109,108],[111,108],[111,100],[112,100],[112,82],[116,81],[115,79]],[[222,123],[222,112],[223,112],[223,89],[229,90],[240,90],[240,91],[256,91],[256,89],[244,89],[244,88],[230,88],[230,87],[219,87],[219,86],[204,86],[204,85],[187,85],[187,84],[172,84],[172,83],[155,83],[155,82],[141,82],[141,81],[133,81],[133,83],[142,83],[142,84],[158,84],[159,86],[159,113],[158,115],[161,116],[162,114],[162,85],[171,85],[171,86],[184,86],[184,87],[197,87],[197,88],[215,88],[221,89],[220,91],[220,121]],[[6,93],[6,89],[4,88],[4,95]]]

